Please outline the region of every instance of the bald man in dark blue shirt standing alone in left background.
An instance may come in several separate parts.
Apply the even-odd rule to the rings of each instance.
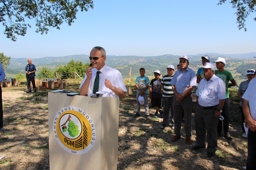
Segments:
[[[32,64],[31,59],[28,59],[28,65],[26,65],[25,72],[27,73],[26,78],[27,78],[27,82],[28,82],[28,92],[26,92],[26,93],[31,92],[30,81],[32,82],[34,93],[35,93],[36,92],[36,84],[35,84],[36,66],[34,64]]]

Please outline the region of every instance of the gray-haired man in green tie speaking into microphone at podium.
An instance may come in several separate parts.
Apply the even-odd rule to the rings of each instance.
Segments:
[[[121,73],[105,64],[106,51],[102,47],[94,47],[90,53],[90,67],[85,70],[84,80],[80,85],[80,95],[110,93],[110,97],[125,98],[126,88]],[[95,69],[92,69],[95,68]]]

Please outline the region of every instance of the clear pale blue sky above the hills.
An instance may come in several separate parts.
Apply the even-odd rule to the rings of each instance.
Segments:
[[[196,55],[256,52],[256,22],[247,31],[236,24],[236,9],[218,0],[94,0],[94,8],[78,12],[75,22],[60,30],[36,33],[34,19],[27,34],[13,42],[0,25],[0,52],[12,58],[89,55],[95,46],[107,55]]]

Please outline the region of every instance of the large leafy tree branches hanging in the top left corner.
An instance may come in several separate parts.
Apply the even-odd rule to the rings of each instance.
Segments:
[[[0,22],[5,27],[4,34],[12,41],[16,35],[25,36],[26,19],[35,19],[36,33],[47,34],[49,27],[60,29],[63,22],[69,26],[76,19],[77,8],[81,11],[93,9],[92,0],[0,0]]]

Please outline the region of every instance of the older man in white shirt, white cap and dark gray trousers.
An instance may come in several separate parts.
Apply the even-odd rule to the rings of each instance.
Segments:
[[[196,146],[193,149],[205,148],[207,130],[207,156],[212,157],[218,149],[217,125],[226,99],[226,85],[223,80],[215,76],[212,63],[205,63],[203,70],[204,78],[196,91]]]

